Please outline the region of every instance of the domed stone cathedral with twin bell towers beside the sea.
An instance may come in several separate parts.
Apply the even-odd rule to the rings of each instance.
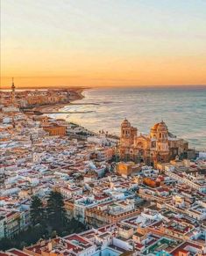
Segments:
[[[118,147],[121,160],[156,166],[168,163],[187,150],[188,142],[172,135],[164,121],[156,123],[149,135],[139,134],[138,128],[133,128],[126,119],[121,124]]]

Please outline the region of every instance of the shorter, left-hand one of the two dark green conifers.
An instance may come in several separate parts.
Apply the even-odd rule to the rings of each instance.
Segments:
[[[45,223],[45,209],[43,208],[42,201],[36,195],[32,196],[30,216],[32,220],[32,226]]]

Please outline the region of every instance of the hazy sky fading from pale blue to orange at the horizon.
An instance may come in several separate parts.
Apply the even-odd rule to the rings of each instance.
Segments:
[[[206,84],[205,0],[2,0],[1,84]]]

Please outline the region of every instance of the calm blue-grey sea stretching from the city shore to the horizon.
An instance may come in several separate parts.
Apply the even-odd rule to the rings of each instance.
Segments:
[[[169,131],[188,140],[191,148],[206,150],[206,87],[103,88],[83,91],[83,95],[84,99],[75,101],[77,105],[63,110],[92,112],[57,114],[58,118],[115,135],[125,117],[143,134],[163,120]],[[84,105],[89,103],[96,105]]]

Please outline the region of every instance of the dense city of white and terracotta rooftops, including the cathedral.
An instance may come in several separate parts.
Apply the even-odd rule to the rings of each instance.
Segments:
[[[81,98],[1,91],[0,255],[206,255],[206,153],[164,121],[118,137],[49,117]]]

